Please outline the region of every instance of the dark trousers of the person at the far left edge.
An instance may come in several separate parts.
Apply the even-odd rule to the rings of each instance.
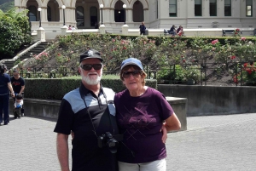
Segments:
[[[0,123],[9,123],[9,94],[0,95]]]

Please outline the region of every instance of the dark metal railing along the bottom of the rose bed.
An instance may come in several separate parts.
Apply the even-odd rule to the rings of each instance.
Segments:
[[[247,64],[247,66],[245,66]],[[249,72],[256,75],[255,66],[246,62],[224,63],[195,63],[195,64],[173,64],[173,65],[147,65],[144,66],[147,79],[157,79],[159,83],[187,83],[189,77],[195,80],[197,85],[244,85],[251,83],[255,85],[256,76],[250,78]],[[12,75],[11,71],[9,72]],[[103,70],[104,75],[119,75],[119,71]],[[77,68],[68,67],[45,67],[26,68],[20,70],[20,76],[25,78],[57,78],[79,76]]]

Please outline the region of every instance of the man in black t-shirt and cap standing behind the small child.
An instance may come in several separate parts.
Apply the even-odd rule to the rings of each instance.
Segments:
[[[13,77],[11,77],[11,84],[12,84],[12,87],[14,88],[15,96],[17,94],[23,95],[23,92],[25,89],[25,80],[23,77],[20,77],[20,72],[18,70],[13,71]],[[21,109],[21,116],[24,117],[23,107]]]

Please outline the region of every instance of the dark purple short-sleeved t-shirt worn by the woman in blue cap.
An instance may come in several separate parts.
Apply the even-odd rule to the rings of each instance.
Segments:
[[[131,97],[125,89],[115,95],[114,105],[120,134],[124,134],[119,143],[119,161],[142,163],[165,158],[160,128],[173,113],[165,96],[148,87],[143,95]]]

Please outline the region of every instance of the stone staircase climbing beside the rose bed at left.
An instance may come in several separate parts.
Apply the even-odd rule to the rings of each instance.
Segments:
[[[42,42],[40,44],[38,44],[38,46],[30,49],[29,51],[26,52],[26,54],[23,54],[22,56],[20,56],[18,59],[16,60],[11,60],[11,61],[4,61],[3,64],[5,64],[7,66],[8,69],[11,69],[15,66],[15,62],[20,60],[25,60],[26,58],[31,58],[31,54],[40,54],[41,52],[44,51],[44,49],[47,47],[48,42]]]

